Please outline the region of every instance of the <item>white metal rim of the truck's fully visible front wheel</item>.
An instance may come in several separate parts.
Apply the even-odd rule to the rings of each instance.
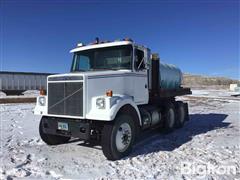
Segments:
[[[119,152],[124,152],[132,140],[132,130],[128,123],[119,126],[116,134],[116,147]]]

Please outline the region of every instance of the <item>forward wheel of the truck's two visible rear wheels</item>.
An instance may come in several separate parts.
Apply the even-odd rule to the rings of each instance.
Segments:
[[[172,132],[176,123],[175,107],[173,103],[169,102],[165,104],[164,117],[164,130],[167,133]]]

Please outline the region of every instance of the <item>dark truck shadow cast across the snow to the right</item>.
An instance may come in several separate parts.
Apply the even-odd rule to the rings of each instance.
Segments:
[[[230,123],[223,122],[228,115],[226,114],[191,114],[180,129],[172,133],[163,134],[160,129],[144,132],[136,143],[130,157],[141,154],[149,154],[158,151],[173,151],[181,145],[191,141],[199,134],[207,133],[214,129],[227,128]]]

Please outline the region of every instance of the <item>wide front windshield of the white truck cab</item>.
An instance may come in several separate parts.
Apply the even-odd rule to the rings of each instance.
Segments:
[[[76,52],[71,72],[132,68],[132,46],[114,46]]]

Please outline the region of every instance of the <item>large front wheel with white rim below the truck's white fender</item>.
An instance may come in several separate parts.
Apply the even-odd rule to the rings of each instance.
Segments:
[[[135,139],[134,122],[131,116],[120,114],[113,123],[102,129],[102,150],[108,160],[118,160],[127,156]]]

